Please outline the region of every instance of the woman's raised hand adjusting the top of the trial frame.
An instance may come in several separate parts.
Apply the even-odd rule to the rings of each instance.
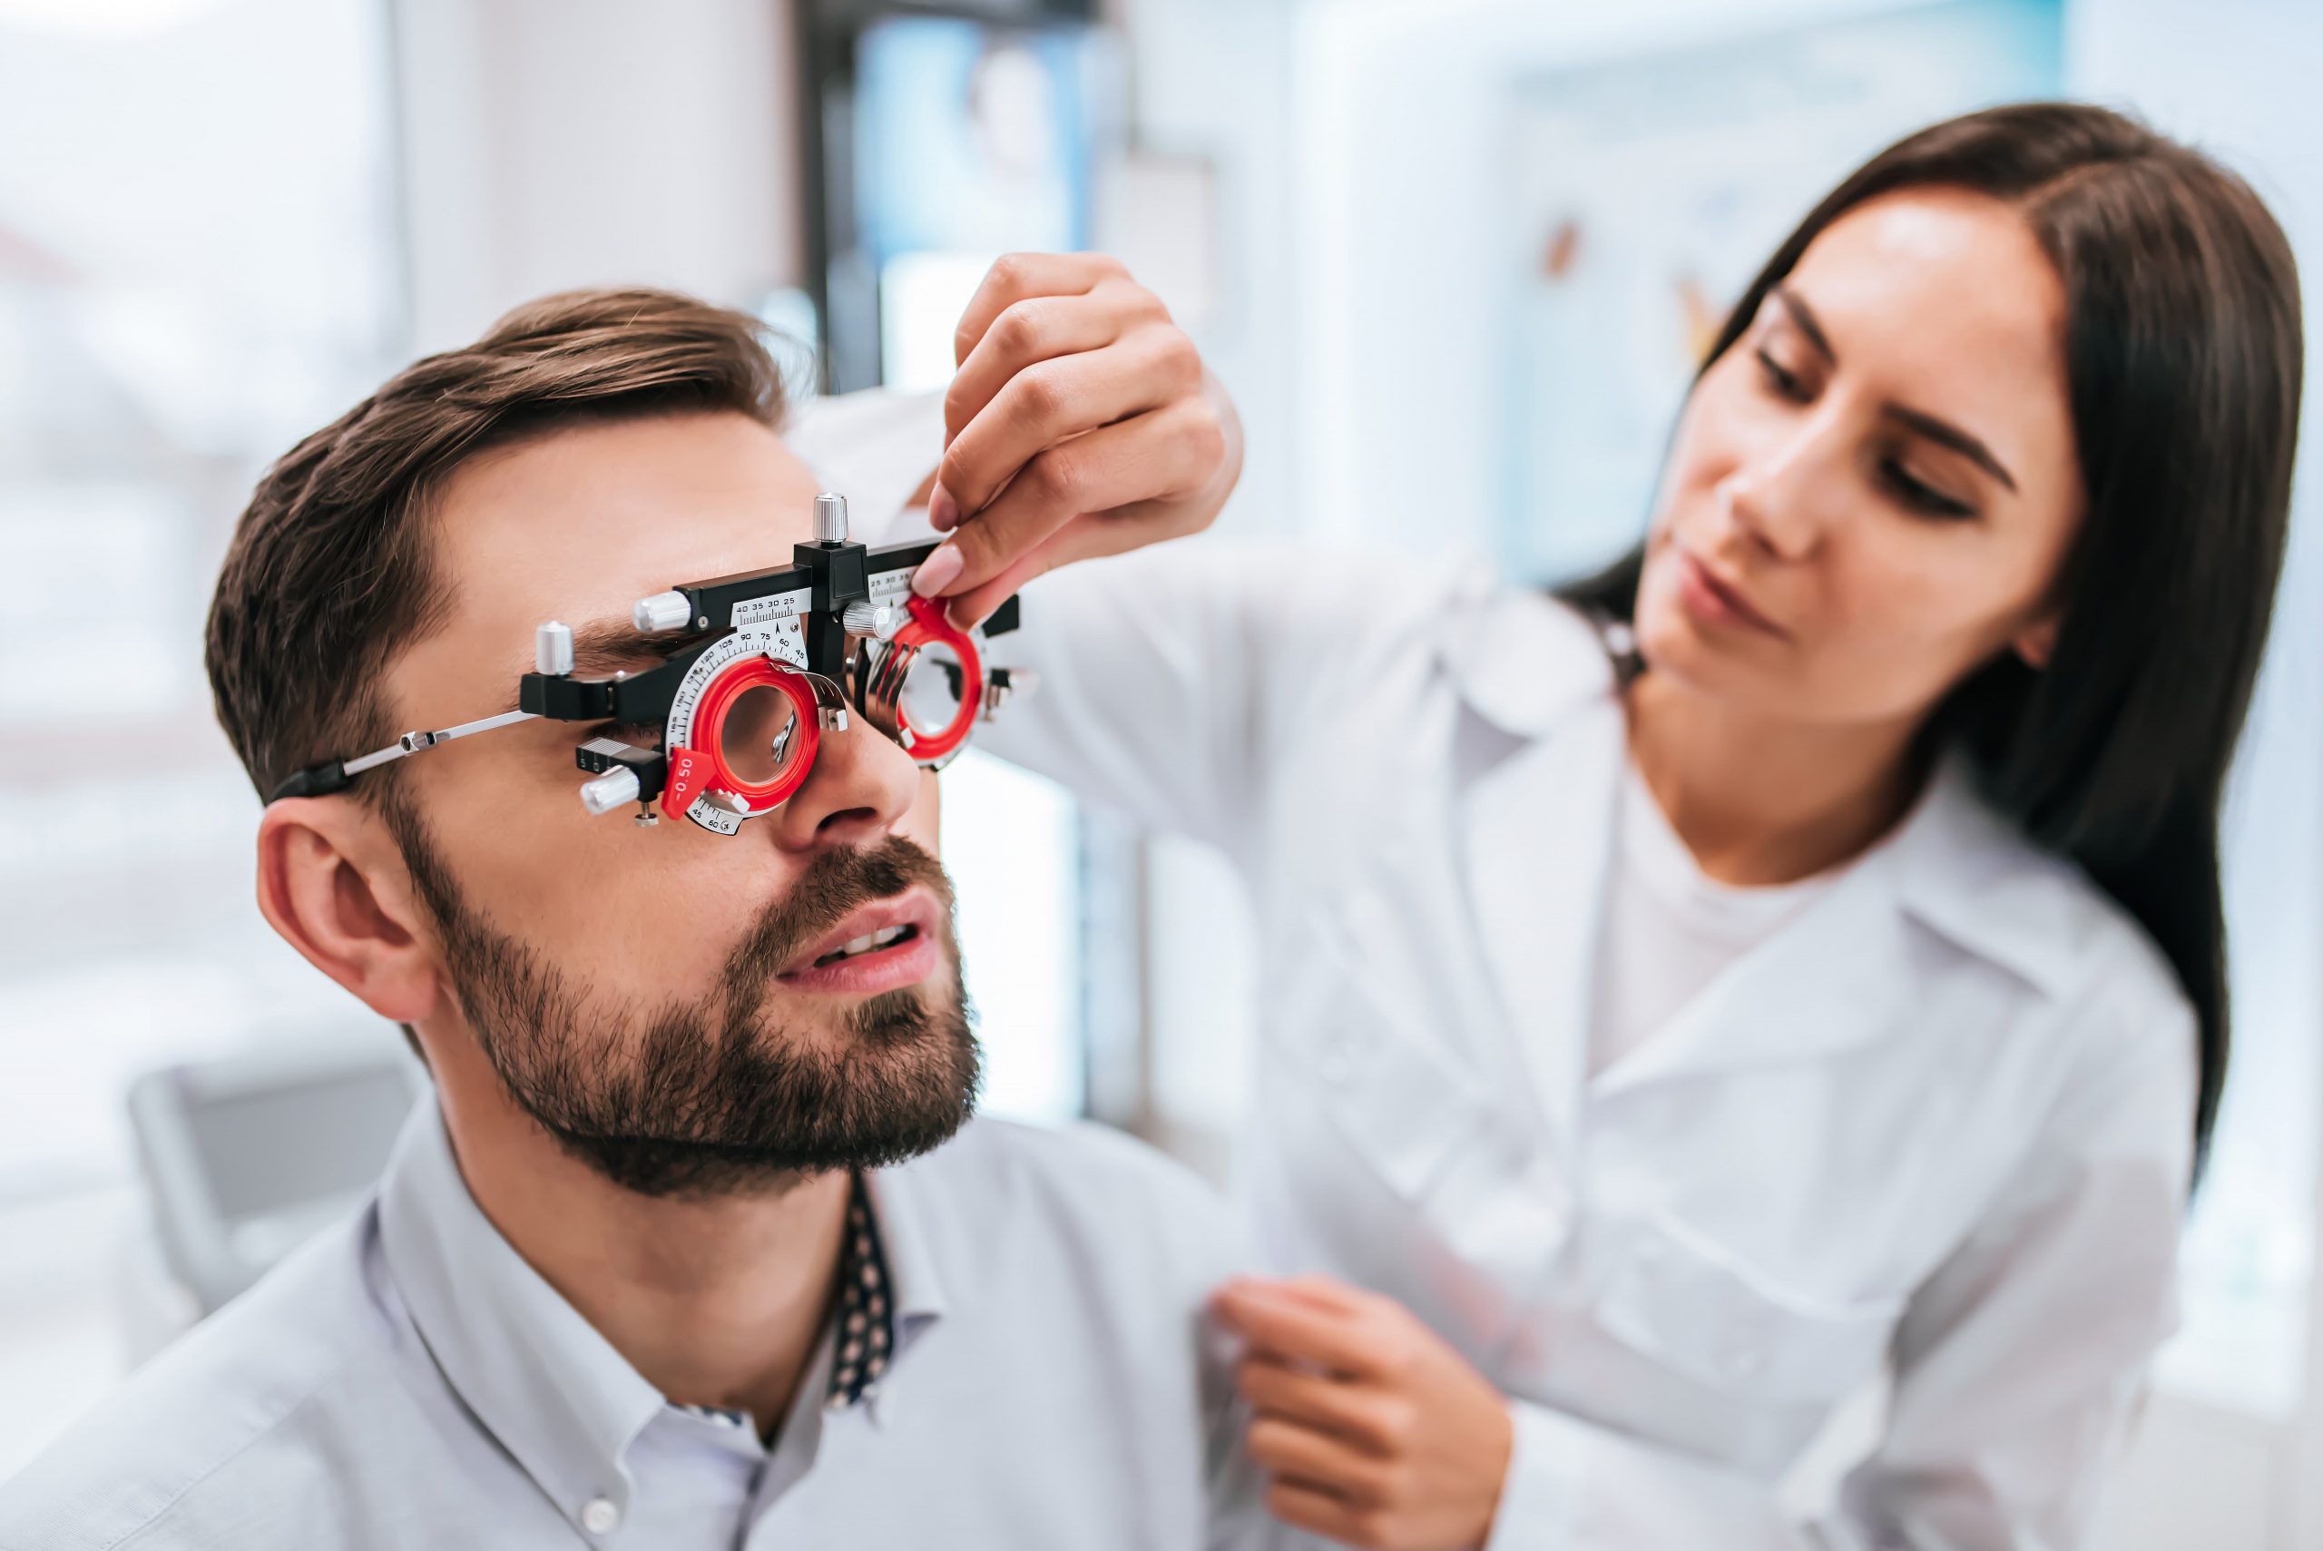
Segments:
[[[1243,471],[1234,402],[1168,311],[1101,253],[1011,253],[952,339],[913,590],[973,625],[1027,580],[1210,525]]]

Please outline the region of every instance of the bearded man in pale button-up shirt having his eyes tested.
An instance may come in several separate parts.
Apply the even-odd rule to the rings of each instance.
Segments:
[[[506,710],[539,620],[581,673],[655,659],[630,599],[808,536],[781,413],[750,318],[576,293],[302,441],[209,620],[258,792]],[[1150,495],[1231,478],[1217,446]],[[262,912],[434,1096],[365,1212],[0,1488],[0,1546],[1240,1539],[1217,1207],[1127,1140],[969,1121],[934,776],[857,715],[729,838],[585,815],[574,743],[265,808]]]

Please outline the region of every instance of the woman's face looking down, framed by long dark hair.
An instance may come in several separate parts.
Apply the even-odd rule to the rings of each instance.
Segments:
[[[1638,587],[1654,671],[1916,724],[2000,652],[2040,664],[2081,520],[2063,327],[1998,200],[1907,190],[1826,228],[1686,402]]]

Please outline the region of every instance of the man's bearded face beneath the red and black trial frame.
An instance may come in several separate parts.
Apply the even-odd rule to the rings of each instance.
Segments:
[[[388,671],[393,724],[513,708],[544,620],[585,643],[597,625],[623,634],[643,594],[785,564],[813,495],[736,413],[585,425],[462,464],[434,520],[446,618]],[[576,671],[653,659],[583,655]],[[623,736],[534,720],[451,743],[402,766],[388,803],[448,1005],[516,1101],[646,1193],[778,1184],[948,1138],[976,1043],[934,776],[850,717],[739,836],[641,829],[581,808],[571,750],[602,731]]]

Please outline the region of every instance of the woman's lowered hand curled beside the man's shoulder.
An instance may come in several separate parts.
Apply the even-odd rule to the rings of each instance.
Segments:
[[[1229,1282],[1210,1307],[1250,1342],[1250,1453],[1275,1518],[1366,1551],[1484,1544],[1515,1423],[1440,1335],[1329,1277]]]

